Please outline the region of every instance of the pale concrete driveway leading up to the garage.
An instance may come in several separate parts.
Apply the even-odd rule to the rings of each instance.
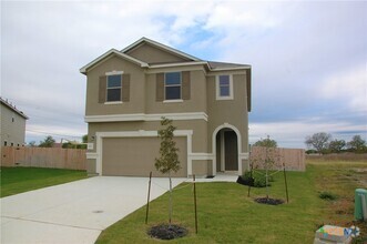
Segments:
[[[173,186],[187,179],[173,179]],[[96,176],[1,199],[1,243],[94,243],[146,203],[146,177]],[[152,179],[151,200],[169,189]],[[144,220],[142,220],[143,222]]]

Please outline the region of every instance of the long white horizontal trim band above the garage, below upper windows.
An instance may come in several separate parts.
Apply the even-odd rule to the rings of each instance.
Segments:
[[[161,121],[162,116],[170,120],[204,120],[207,121],[207,114],[204,112],[192,113],[131,113],[131,114],[112,114],[112,115],[85,115],[84,121],[91,122],[124,122],[124,121]]]

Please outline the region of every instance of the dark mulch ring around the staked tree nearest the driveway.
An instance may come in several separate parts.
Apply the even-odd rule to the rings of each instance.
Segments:
[[[160,240],[173,240],[187,235],[187,230],[175,224],[160,224],[151,227],[147,234]]]

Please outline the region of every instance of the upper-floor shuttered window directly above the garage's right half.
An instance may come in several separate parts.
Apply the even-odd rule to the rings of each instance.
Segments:
[[[181,72],[164,74],[165,100],[181,100]]]

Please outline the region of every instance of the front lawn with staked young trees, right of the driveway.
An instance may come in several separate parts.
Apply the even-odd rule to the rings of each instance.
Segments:
[[[289,203],[277,206],[254,202],[255,197],[265,196],[265,189],[252,189],[247,197],[247,186],[236,183],[197,183],[197,235],[193,189],[183,183],[174,191],[173,221],[185,226],[188,235],[170,243],[313,243],[322,224],[351,224],[354,190],[366,187],[366,179],[367,163],[309,162],[306,173],[287,173]],[[337,200],[319,199],[324,191],[336,194]],[[282,173],[275,174],[271,197],[285,200]],[[167,222],[167,205],[169,195],[164,194],[150,204],[147,225],[142,207],[103,231],[96,243],[162,242],[146,232],[150,226]],[[363,230],[365,236],[366,231]]]

